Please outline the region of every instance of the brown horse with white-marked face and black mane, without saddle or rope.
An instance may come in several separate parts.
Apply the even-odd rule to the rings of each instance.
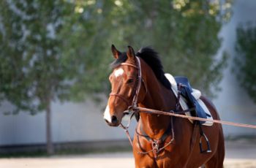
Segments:
[[[104,113],[109,126],[119,126],[124,111],[137,101],[139,107],[166,112],[175,110],[177,98],[153,49],[144,47],[135,54],[132,47],[128,47],[127,53],[121,53],[112,45],[112,53],[116,58],[109,77],[112,92]],[[219,120],[214,105],[205,96],[200,99],[213,118]],[[202,126],[202,129],[211,143],[211,153],[200,152],[197,124],[184,118],[140,112],[132,142],[135,166],[194,168],[205,164],[206,167],[223,167],[225,143],[222,126],[214,124]]]

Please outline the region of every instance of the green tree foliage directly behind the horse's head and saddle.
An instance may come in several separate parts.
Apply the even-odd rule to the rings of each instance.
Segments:
[[[113,43],[120,50],[126,50],[127,45],[137,50],[151,45],[159,51],[165,72],[188,76],[195,88],[214,96],[210,88],[219,89],[227,60],[226,55],[218,59],[214,55],[221,45],[218,33],[230,16],[231,1],[219,3],[204,0],[78,3],[78,8],[83,9],[80,10],[83,21],[77,23],[76,33],[83,31],[83,34],[71,35],[66,49],[72,48],[76,56],[83,53],[84,61],[80,64],[85,66],[80,65],[83,70],[73,91],[80,98],[85,93],[109,92],[108,64],[113,61],[110,52]]]

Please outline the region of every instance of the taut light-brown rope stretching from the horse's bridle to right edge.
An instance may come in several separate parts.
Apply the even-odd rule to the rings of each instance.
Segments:
[[[211,120],[211,119],[207,119],[207,118],[198,118],[198,117],[192,117],[192,116],[187,116],[187,115],[180,115],[180,114],[176,114],[173,112],[163,112],[163,111],[159,111],[159,110],[151,110],[151,109],[144,108],[144,107],[135,107],[135,108],[140,110],[140,112],[144,112],[144,113],[151,113],[151,114],[157,114],[157,115],[170,115],[170,116],[175,116],[178,118],[187,118],[187,119],[191,119],[194,121],[210,121],[213,123],[222,123],[222,124],[229,125],[229,126],[238,126],[238,127],[256,129],[256,125],[251,125],[251,124],[234,123],[234,122],[230,122],[230,121]]]

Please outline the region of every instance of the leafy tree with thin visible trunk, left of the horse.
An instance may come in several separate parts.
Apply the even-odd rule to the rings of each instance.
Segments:
[[[75,68],[61,57],[59,38],[74,8],[61,0],[1,1],[1,96],[15,104],[16,112],[46,111],[49,154],[53,153],[50,104],[68,98],[72,75],[66,73]]]

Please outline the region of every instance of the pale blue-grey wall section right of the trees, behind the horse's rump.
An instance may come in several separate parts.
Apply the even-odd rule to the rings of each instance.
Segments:
[[[236,76],[231,72],[233,66],[233,56],[235,56],[236,27],[238,24],[246,24],[248,21],[256,23],[256,1],[239,0],[235,1],[233,7],[233,17],[230,22],[222,26],[219,34],[223,38],[222,48],[230,53],[230,60],[225,69],[221,93],[214,104],[217,106],[222,120],[241,123],[256,124],[256,105],[249,99],[244,89],[238,83]],[[255,24],[256,25],[256,24]],[[256,47],[256,46],[255,46]],[[224,126],[225,135],[254,134],[256,129],[242,129],[233,126]]]

